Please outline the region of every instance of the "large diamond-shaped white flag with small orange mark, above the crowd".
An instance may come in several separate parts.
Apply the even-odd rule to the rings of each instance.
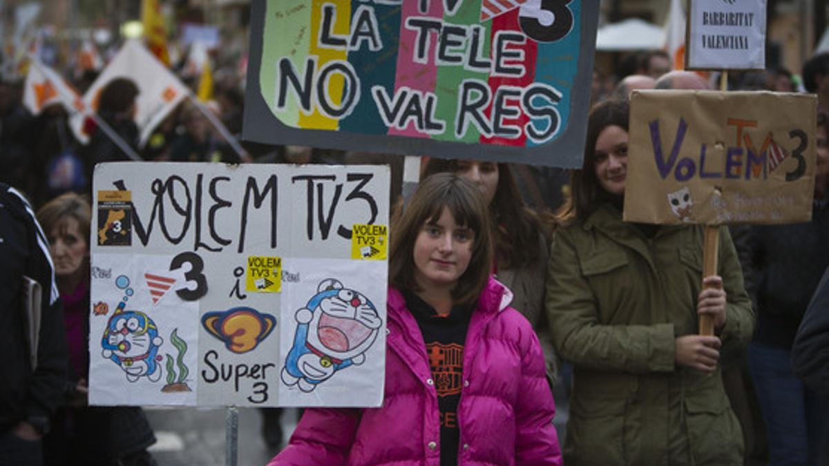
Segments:
[[[191,93],[176,75],[167,70],[167,67],[136,39],[126,41],[109,65],[101,71],[98,79],[86,91],[85,103],[92,109],[97,109],[100,91],[115,78],[128,78],[138,86],[135,123],[138,124],[141,133],[142,146],[156,125]]]

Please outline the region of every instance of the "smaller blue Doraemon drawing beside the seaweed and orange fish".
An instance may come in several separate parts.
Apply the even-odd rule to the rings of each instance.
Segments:
[[[127,373],[128,381],[146,376],[154,382],[161,378],[158,347],[162,342],[153,319],[139,311],[124,311],[122,301],[104,330],[101,354],[118,364]]]

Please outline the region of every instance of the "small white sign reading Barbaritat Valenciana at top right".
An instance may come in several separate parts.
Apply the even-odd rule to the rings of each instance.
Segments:
[[[762,70],[766,0],[689,0],[686,68]]]

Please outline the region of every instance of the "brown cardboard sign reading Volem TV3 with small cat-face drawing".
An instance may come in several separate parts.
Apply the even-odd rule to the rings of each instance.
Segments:
[[[814,95],[634,91],[624,219],[809,221],[816,114]]]

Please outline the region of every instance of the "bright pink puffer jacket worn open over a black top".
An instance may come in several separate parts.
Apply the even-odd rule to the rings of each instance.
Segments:
[[[458,464],[561,464],[544,357],[530,323],[490,279],[469,323],[458,404]],[[274,465],[440,464],[438,396],[423,337],[389,289],[385,400],[376,409],[309,409]]]

